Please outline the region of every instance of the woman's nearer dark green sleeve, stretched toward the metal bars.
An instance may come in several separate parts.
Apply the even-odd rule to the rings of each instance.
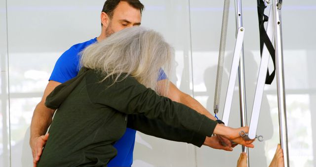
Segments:
[[[159,119],[167,125],[206,136],[212,135],[217,124],[183,104],[159,96],[154,90],[146,88],[132,77],[111,85],[112,83],[113,80],[108,78],[102,83],[89,86],[88,92],[94,94],[95,103],[125,114],[142,114],[148,119]]]

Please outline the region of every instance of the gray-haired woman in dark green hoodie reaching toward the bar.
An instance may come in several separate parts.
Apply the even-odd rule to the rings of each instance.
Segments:
[[[161,127],[148,123],[151,120],[174,131],[186,129],[193,136],[219,134],[253,147],[252,141],[245,142],[238,134],[247,132],[247,127],[219,125],[163,96],[168,83],[158,89],[157,80],[162,69],[168,74],[172,59],[169,44],[157,32],[142,27],[122,30],[88,46],[81,55],[78,76],[46,98],[45,105],[58,110],[38,166],[104,167],[116,156],[113,144],[126,127],[190,143],[181,135],[156,134]],[[155,132],[155,128],[160,130]]]

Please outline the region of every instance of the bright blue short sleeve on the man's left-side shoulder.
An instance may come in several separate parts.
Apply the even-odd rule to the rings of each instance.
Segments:
[[[64,83],[77,76],[79,72],[79,53],[88,45],[97,42],[94,38],[87,42],[78,43],[65,51],[57,60],[49,81]]]

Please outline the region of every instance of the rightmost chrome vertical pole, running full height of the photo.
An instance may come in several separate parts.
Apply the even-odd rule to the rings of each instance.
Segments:
[[[286,125],[285,86],[283,68],[282,30],[281,30],[281,7],[282,0],[273,0],[275,42],[276,42],[276,85],[277,105],[279,116],[280,144],[283,149],[284,167],[289,167],[288,141]]]

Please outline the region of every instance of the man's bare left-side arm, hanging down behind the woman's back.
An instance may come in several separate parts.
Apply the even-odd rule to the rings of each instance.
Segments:
[[[53,115],[55,110],[47,108],[44,103],[46,100],[47,95],[54,90],[56,86],[58,86],[61,83],[55,82],[55,81],[49,81],[43,97],[40,101],[40,103],[36,106],[32,122],[31,122],[31,137],[30,137],[30,146],[32,149],[32,155],[33,155],[33,163],[36,165],[36,163],[40,160],[40,155],[42,152],[42,148],[45,145],[48,135],[45,135],[47,128],[51,124]]]

